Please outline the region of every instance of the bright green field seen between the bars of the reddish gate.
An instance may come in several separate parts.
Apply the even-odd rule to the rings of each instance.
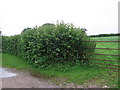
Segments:
[[[92,38],[95,41],[119,41],[118,36],[111,36],[111,37],[94,37]],[[120,44],[118,42],[97,42],[96,48],[113,48],[113,49],[118,49]],[[110,54],[110,55],[118,55],[118,50],[109,50],[109,49],[96,49],[95,53],[97,54]],[[107,56],[107,55],[93,55],[93,58],[96,59],[106,59],[106,60],[113,60],[113,61],[118,61],[119,57],[118,56]],[[98,61],[98,60],[92,60],[94,62],[99,62],[99,63],[105,63],[105,64],[113,64],[113,65],[118,65],[118,62],[109,62],[109,61]],[[107,66],[108,65],[101,65],[101,66]],[[117,68],[117,66],[111,66]]]

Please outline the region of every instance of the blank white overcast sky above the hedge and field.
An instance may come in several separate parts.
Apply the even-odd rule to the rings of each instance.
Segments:
[[[0,0],[0,30],[20,34],[27,27],[64,21],[88,35],[118,33],[119,0]]]

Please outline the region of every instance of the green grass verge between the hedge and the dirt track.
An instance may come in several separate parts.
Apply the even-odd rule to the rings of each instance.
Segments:
[[[66,82],[74,83],[74,85],[85,85],[86,87],[90,85],[97,85],[98,87],[107,85],[110,88],[118,88],[118,73],[97,67],[81,67],[76,65],[69,67],[69,71],[65,72],[53,67],[38,69],[28,64],[26,60],[6,53],[2,54],[0,61],[2,61],[3,67],[31,71],[32,75],[49,78],[56,84],[65,84]],[[67,67],[63,66],[62,68]]]

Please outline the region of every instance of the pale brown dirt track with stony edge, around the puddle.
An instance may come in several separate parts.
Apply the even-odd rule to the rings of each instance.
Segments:
[[[6,69],[9,72],[13,72],[16,76],[0,78],[0,89],[1,88],[108,88],[98,87],[96,85],[73,85],[73,83],[57,84],[61,81],[61,78],[56,79],[56,83],[53,84],[49,79],[37,78],[32,76],[29,72],[18,71],[16,69]]]

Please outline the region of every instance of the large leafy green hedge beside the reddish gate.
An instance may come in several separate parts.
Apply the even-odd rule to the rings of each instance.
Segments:
[[[3,51],[21,56],[37,67],[75,65],[89,62],[87,58],[91,55],[87,53],[94,53],[95,49],[84,47],[95,48],[95,42],[84,41],[90,41],[90,38],[73,24],[44,24],[27,28],[17,36],[4,36],[3,44],[7,48],[3,45]]]

